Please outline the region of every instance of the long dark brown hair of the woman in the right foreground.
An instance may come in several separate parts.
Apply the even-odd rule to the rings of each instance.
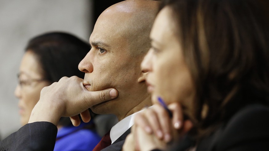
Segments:
[[[247,104],[269,104],[268,12],[258,0],[165,0],[160,10],[166,6],[194,80],[201,135]]]

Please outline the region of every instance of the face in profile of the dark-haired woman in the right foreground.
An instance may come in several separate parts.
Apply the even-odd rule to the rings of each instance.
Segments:
[[[151,48],[141,63],[148,71],[146,82],[153,103],[161,97],[166,104],[180,101],[190,106],[194,99],[194,87],[190,71],[185,64],[180,40],[175,35],[176,25],[169,7],[157,15],[150,33]]]

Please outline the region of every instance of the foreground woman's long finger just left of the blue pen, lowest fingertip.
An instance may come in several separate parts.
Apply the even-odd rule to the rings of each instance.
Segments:
[[[159,123],[161,125],[161,130],[164,133],[165,142],[171,141],[171,119],[167,110],[165,110],[165,108],[163,108],[160,104],[156,104],[153,109],[157,113]]]

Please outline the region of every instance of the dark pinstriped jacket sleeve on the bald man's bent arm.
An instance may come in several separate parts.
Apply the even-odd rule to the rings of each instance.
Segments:
[[[0,151],[52,151],[56,136],[57,127],[50,122],[26,124],[0,142]]]

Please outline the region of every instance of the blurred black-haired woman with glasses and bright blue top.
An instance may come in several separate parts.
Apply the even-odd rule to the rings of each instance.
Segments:
[[[58,82],[63,76],[84,77],[78,64],[89,50],[87,43],[63,32],[45,33],[29,41],[22,57],[18,85],[14,92],[19,99],[22,126],[28,123],[42,88]],[[69,117],[62,117],[57,128],[54,150],[92,150],[100,141],[92,121],[74,127]]]

